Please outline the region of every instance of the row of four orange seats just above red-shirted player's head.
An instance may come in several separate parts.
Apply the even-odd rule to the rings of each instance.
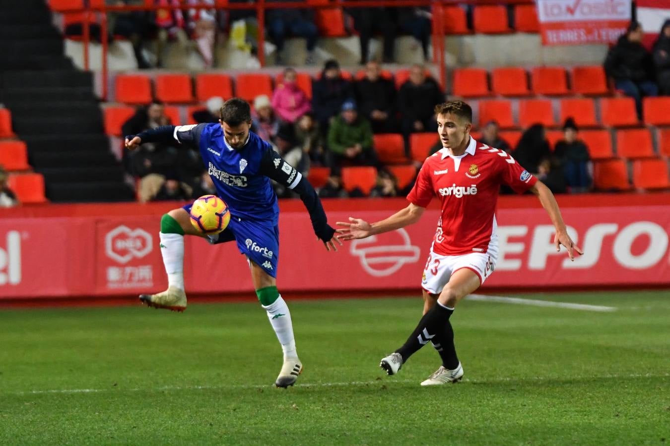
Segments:
[[[604,95],[610,92],[602,66],[580,66],[567,71],[563,67],[483,68],[454,70],[453,92],[464,98],[490,96],[565,96],[569,94]],[[530,81],[530,82],[529,82]]]

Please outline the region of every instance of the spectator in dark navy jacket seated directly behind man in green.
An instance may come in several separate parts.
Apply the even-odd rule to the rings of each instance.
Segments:
[[[324,132],[346,100],[354,98],[351,82],[342,78],[340,64],[334,59],[324,64],[321,78],[312,84],[312,110]]]

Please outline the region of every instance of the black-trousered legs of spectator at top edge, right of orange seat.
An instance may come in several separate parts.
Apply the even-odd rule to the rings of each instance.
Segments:
[[[348,13],[354,19],[354,28],[360,37],[360,64],[368,62],[370,39],[375,33],[381,33],[384,39],[383,60],[393,63],[395,37],[398,31],[398,14],[396,8],[351,8]]]

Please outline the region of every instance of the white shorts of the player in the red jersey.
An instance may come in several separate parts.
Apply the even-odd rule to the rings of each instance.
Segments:
[[[452,274],[459,269],[472,269],[479,276],[480,286],[496,269],[498,259],[498,243],[488,245],[486,253],[470,253],[463,255],[440,255],[433,252],[431,246],[428,261],[423,269],[421,288],[431,294],[440,294],[449,282]]]

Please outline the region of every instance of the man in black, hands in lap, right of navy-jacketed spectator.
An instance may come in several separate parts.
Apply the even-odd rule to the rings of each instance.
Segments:
[[[375,133],[397,132],[395,119],[395,85],[381,76],[377,62],[368,62],[365,77],[354,84],[360,113],[370,120]]]

